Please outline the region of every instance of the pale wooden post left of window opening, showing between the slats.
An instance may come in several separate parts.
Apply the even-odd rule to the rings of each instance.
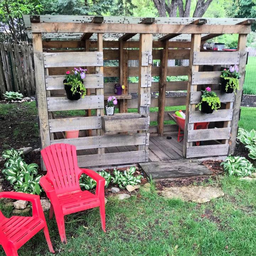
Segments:
[[[98,52],[103,52],[103,38],[102,33],[98,33]],[[96,73],[103,74],[103,66],[98,66],[95,68]],[[97,88],[96,89],[96,95],[104,95],[103,88]],[[97,116],[104,116],[104,108],[98,108],[97,110]],[[97,129],[97,135],[103,135],[104,131],[102,129]],[[104,154],[105,149],[104,148],[98,148],[97,149],[98,154]]]

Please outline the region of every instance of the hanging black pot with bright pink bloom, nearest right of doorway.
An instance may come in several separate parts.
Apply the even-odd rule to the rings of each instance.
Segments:
[[[211,91],[210,87],[206,87],[202,91],[201,101],[196,105],[196,107],[201,106],[201,111],[204,113],[212,113],[213,110],[220,108],[220,99],[217,94]]]

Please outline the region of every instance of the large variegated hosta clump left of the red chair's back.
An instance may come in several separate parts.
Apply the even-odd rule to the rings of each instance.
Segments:
[[[6,160],[2,174],[11,185],[14,185],[16,192],[40,194],[42,189],[39,180],[42,176],[38,175],[38,165],[26,164],[21,158],[22,153],[15,149],[7,149],[2,153],[2,157]]]

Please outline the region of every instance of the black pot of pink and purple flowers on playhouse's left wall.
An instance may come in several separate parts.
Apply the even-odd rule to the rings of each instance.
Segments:
[[[84,86],[84,81],[83,79],[85,79],[85,73],[86,73],[87,69],[82,69],[82,68],[74,68],[74,70],[70,71],[66,71],[66,75],[65,75],[65,80],[63,81],[64,85],[65,85],[65,90],[67,93],[67,97],[70,100],[76,100],[76,98],[70,98],[68,95],[68,91],[70,90],[72,92],[72,95],[82,95],[82,98],[85,97],[86,95],[86,88]],[[78,97],[77,99],[79,99],[80,97]]]

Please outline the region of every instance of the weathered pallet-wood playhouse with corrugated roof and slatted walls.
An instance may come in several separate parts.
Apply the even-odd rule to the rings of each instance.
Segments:
[[[167,165],[175,169],[183,163],[184,171],[197,163],[198,170],[198,160],[182,159],[219,159],[234,152],[246,39],[254,20],[58,15],[23,18],[33,39],[42,148],[54,143],[73,144],[80,167],[149,161],[143,168],[150,167],[153,176],[154,170],[163,168],[162,161],[179,160]],[[225,33],[239,34],[236,51],[203,49],[207,39]],[[188,59],[189,64],[168,66],[170,59]],[[133,60],[139,60],[137,67],[131,66]],[[153,65],[154,60],[159,60],[160,66]],[[241,74],[240,90],[236,95],[224,94],[219,90],[220,70],[234,64]],[[64,91],[64,74],[79,66],[87,68],[87,95],[70,101]],[[167,76],[181,75],[188,76],[188,80],[167,81]],[[159,82],[152,82],[155,76],[159,76]],[[139,77],[139,82],[128,82],[132,77]],[[109,82],[110,78],[125,89],[117,97],[119,113],[105,116],[104,101],[114,95],[116,83]],[[212,114],[203,114],[195,107],[200,90],[207,86],[221,101],[221,109]],[[167,91],[187,91],[187,96],[170,97]],[[151,92],[159,95],[151,97]],[[182,105],[186,105],[185,131],[183,141],[178,142],[177,125],[165,124],[173,113],[165,107],[177,106],[175,110],[180,110]],[[158,107],[158,112],[150,112],[151,107]],[[131,108],[137,108],[137,113],[131,113]],[[84,112],[65,116],[63,111],[71,110]],[[157,125],[150,126],[151,121],[157,121]],[[196,122],[210,123],[208,129],[194,130]],[[67,130],[80,130],[79,138],[65,139],[63,132]],[[172,139],[166,139],[167,135]],[[196,146],[197,141],[201,145]]]

